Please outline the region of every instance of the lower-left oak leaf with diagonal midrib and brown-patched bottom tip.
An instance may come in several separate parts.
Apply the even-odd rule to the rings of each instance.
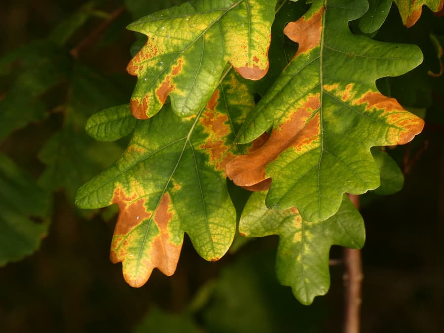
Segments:
[[[224,166],[235,154],[234,129],[253,107],[251,92],[231,71],[197,115],[181,118],[167,104],[138,121],[121,158],[80,187],[81,208],[119,206],[111,260],[122,262],[131,286],[142,286],[154,267],[174,273],[184,232],[204,259],[227,251],[236,213]]]

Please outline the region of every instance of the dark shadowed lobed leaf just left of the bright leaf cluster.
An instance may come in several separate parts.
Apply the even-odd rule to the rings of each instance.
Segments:
[[[38,154],[46,165],[38,182],[49,191],[63,188],[68,198],[74,200],[77,188],[109,166],[122,152],[116,144],[104,144],[88,137],[83,131],[86,118],[120,102],[124,94],[105,77],[81,65],[74,66],[70,83],[64,126],[51,136]]]

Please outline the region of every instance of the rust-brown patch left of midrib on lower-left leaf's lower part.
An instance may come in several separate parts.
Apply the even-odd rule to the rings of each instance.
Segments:
[[[123,189],[117,187],[114,190],[112,202],[119,207],[119,217],[114,228],[114,236],[126,235],[132,228],[139,225],[144,220],[149,219],[151,212],[147,212],[145,199],[134,201],[137,194],[129,197],[125,195]]]

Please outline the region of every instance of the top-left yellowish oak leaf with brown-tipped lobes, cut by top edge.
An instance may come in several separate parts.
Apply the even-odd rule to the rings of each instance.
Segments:
[[[130,103],[134,116],[153,116],[168,96],[177,114],[196,113],[212,96],[227,61],[246,78],[265,75],[275,3],[195,0],[129,25],[148,36],[127,67],[138,76]]]

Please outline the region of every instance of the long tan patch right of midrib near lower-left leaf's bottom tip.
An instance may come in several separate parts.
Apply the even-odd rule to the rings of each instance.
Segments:
[[[173,219],[173,213],[170,212],[170,202],[170,195],[165,193],[154,213],[154,222],[159,228],[160,234],[155,237],[149,256],[152,265],[167,276],[173,275],[176,271],[182,250],[182,244],[176,245],[170,242],[168,225]]]

